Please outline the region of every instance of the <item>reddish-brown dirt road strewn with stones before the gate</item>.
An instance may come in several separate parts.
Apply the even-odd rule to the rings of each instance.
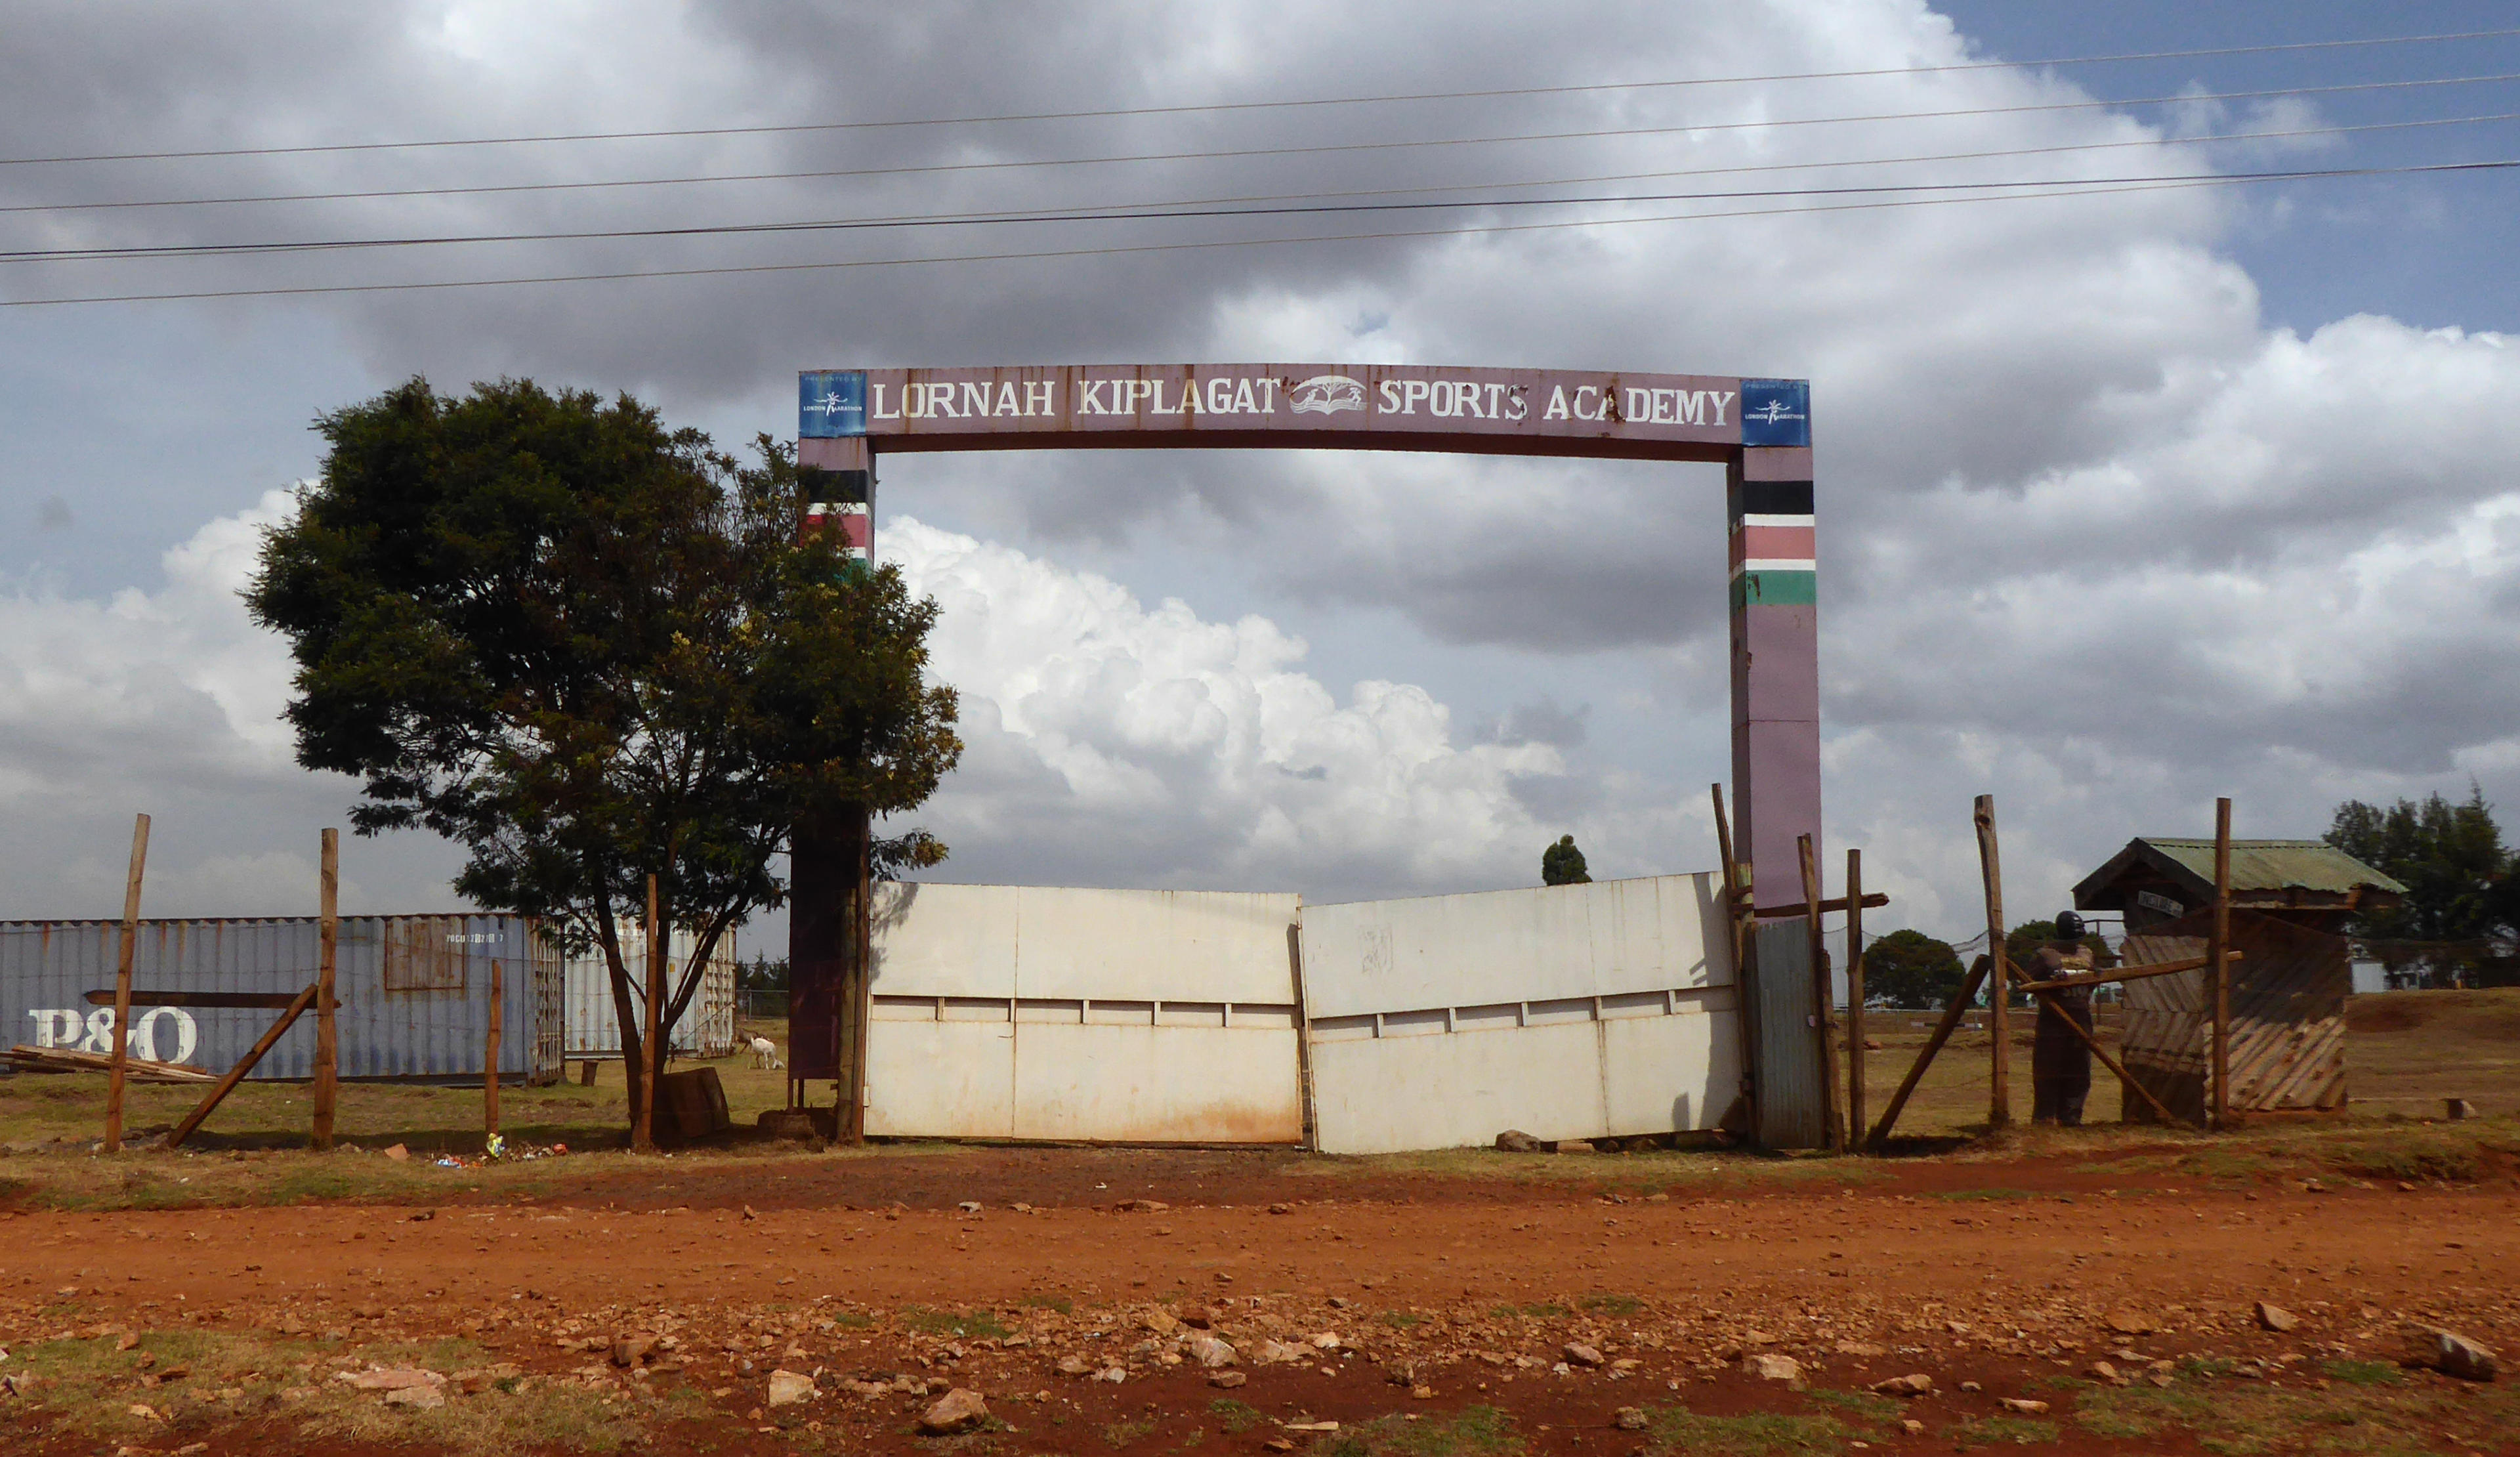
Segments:
[[[2339,1371],[2351,1384],[2359,1361],[2394,1356],[2409,1321],[2520,1354],[2510,1177],[2306,1192],[2024,1160],[1920,1162],[1865,1185],[1603,1195],[1338,1180],[1270,1155],[975,1149],[776,1167],[549,1205],[18,1212],[0,1218],[0,1344],[275,1333],[307,1341],[290,1386],[307,1391],[370,1351],[459,1336],[471,1359],[529,1384],[655,1407],[658,1452],[917,1449],[907,1422],[948,1384],[990,1399],[1013,1427],[995,1437],[1008,1452],[1260,1449],[1326,1439],[1283,1422],[1336,1419],[1353,1437],[1381,1414],[1441,1424],[1484,1407],[1512,1414],[1530,1449],[1693,1449],[1686,1422],[1792,1412],[1835,1424],[1814,1429],[1830,1437],[1814,1449],[1898,1444],[1910,1439],[1898,1422],[1920,1422],[1935,1437],[2160,1452],[2208,1432],[2139,1429],[2137,1414],[2119,1439],[2107,1422],[2056,1424],[2001,1402],[2064,1412],[2172,1397],[2167,1361],[2185,1356],[2197,1361],[2182,1384],[2260,1404],[2328,1399]],[[925,1207],[897,1207],[912,1202]],[[2265,1328],[2258,1301],[2296,1323]],[[1235,1346],[1240,1384],[1212,1386],[1182,1359],[1172,1318],[1184,1313]],[[660,1346],[615,1364],[617,1336]],[[1799,1379],[1746,1371],[1744,1356],[1761,1354],[1797,1361]],[[819,1394],[766,1412],[779,1366],[816,1376]],[[1119,1381],[1074,1374],[1114,1369]],[[1862,1397],[1910,1371],[1935,1394],[1895,1412]],[[2145,1386],[2152,1376],[2165,1384]],[[174,1437],[212,1454],[292,1449],[287,1399],[227,1389],[239,1397],[214,1402],[192,1381],[189,1407],[161,1412],[154,1449],[176,1449]],[[2497,1422],[2520,1429],[2502,1399],[2505,1386],[2470,1407],[2442,1397],[2437,1432],[2507,1439],[2490,1437]],[[1613,1424],[1620,1407],[1653,1422],[1646,1439]],[[91,1437],[63,1429],[60,1449]]]

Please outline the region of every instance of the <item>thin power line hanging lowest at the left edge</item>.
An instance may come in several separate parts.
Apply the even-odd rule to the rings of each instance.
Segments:
[[[2449,164],[2465,171],[2482,169],[2510,169],[2520,161],[2490,161],[2490,164]],[[1278,247],[1278,245],[1303,245],[1303,242],[1386,242],[1386,239],[1419,239],[1419,237],[1467,237],[1467,234],[1504,234],[1504,232],[1552,232],[1567,227],[1620,227],[1643,222],[1714,222],[1731,217],[1794,217],[1814,212],[1872,212],[1893,207],[1950,207],[1950,204],[1976,204],[1976,202],[2034,202],[2051,197],[2112,197],[2119,192],[2167,192],[2167,189],[2192,189],[2192,187],[2225,187],[2233,181],[2245,181],[2235,176],[2213,176],[2210,181],[2142,181],[2132,187],[2076,187],[2066,192],[1998,192],[1998,194],[1971,194],[1971,197],[1908,197],[1908,199],[1875,199],[1875,202],[1827,202],[1812,207],[1759,207],[1759,209],[1731,209],[1731,212],[1666,212],[1643,217],[1598,217],[1598,219],[1570,219],[1570,222],[1507,222],[1507,224],[1472,224],[1472,227],[1424,227],[1424,229],[1386,229],[1386,232],[1341,232],[1341,234],[1310,234],[1310,237],[1232,237],[1232,239],[1197,239],[1197,242],[1137,242],[1137,245],[1104,245],[1104,247],[1058,247],[1058,250],[1013,250],[1013,252],[968,252],[968,255],[930,255],[930,257],[852,257],[852,260],[822,260],[822,262],[751,262],[751,265],[711,265],[711,267],[658,267],[658,270],[615,270],[615,272],[559,272],[559,275],[527,275],[527,277],[469,277],[469,280],[418,280],[418,282],[343,282],[343,285],[285,285],[285,287],[224,287],[224,290],[181,290],[181,292],[126,292],[126,295],[81,295],[81,297],[20,297],[0,300],[0,308],[58,308],[58,305],[93,305],[93,302],[184,302],[184,300],[219,300],[219,297],[307,297],[307,295],[348,295],[348,292],[431,292],[431,290],[456,290],[456,287],[519,287],[519,285],[547,285],[547,282],[625,282],[645,277],[731,277],[731,275],[759,275],[759,272],[832,272],[854,267],[917,267],[917,265],[948,265],[948,262],[1041,262],[1041,260],[1066,260],[1066,257],[1121,257],[1121,255],[1147,255],[1147,252],[1205,252],[1227,247]]]

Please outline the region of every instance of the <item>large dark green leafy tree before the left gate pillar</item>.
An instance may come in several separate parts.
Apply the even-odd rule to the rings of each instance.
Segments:
[[[738,466],[630,396],[413,378],[318,429],[323,476],[244,592],[297,663],[297,761],[358,779],[360,834],[464,844],[471,902],[602,948],[635,1109],[645,968],[620,930],[648,877],[693,935],[673,1026],[718,938],[781,905],[794,822],[912,809],[953,769],[935,602],[799,542],[786,449]],[[910,832],[877,860],[942,847]]]

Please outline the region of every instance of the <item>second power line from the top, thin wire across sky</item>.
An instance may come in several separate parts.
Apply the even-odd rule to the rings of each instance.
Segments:
[[[2505,71],[2492,76],[2429,76],[2414,81],[2344,81],[2334,86],[2278,86],[2260,91],[2208,91],[2208,93],[2175,93],[2175,96],[2129,96],[2114,101],[2036,101],[2021,106],[1953,106],[1943,111],[1875,111],[1865,116],[1789,116],[1769,121],[1696,121],[1696,124],[1671,124],[1671,126],[1605,126],[1588,131],[1522,131],[1499,136],[1436,136],[1414,141],[1331,141],[1310,146],[1232,146],[1210,151],[1131,151],[1111,156],[1048,156],[1048,159],[1008,159],[1008,161],[927,161],[910,166],[842,166],[842,169],[816,169],[816,171],[738,171],[738,174],[701,174],[701,176],[638,176],[638,179],[607,179],[607,181],[507,181],[507,184],[479,184],[479,187],[403,187],[403,189],[365,189],[365,192],[295,192],[295,194],[260,194],[260,197],[199,197],[199,199],[141,199],[141,202],[68,202],[68,204],[18,204],[10,212],[73,212],[73,209],[108,209],[108,207],[209,207],[209,204],[262,204],[262,202],[375,202],[388,197],[481,197],[481,194],[512,194],[512,192],[587,192],[605,187],[696,187],[696,184],[723,184],[723,181],[832,181],[852,176],[935,176],[950,171],[1021,171],[1033,166],[1111,166],[1134,161],[1240,161],[1252,156],[1328,156],[1328,154],[1363,154],[1363,151],[1409,151],[1409,149],[1439,149],[1439,146],[1504,146],[1525,141],[1603,141],[1615,136],[1671,136],[1681,131],[1761,131],[1782,126],[1847,126],[1847,124],[1877,124],[1877,121],[1948,121],[1963,116],[2024,116],[2036,111],[2094,111],[2109,106],[2172,106],[2172,103],[2197,103],[2197,101],[2263,101],[2268,96],[2336,96],[2346,91],[2409,91],[2409,88],[2434,88],[2434,86],[2490,86],[2502,81],[2520,81],[2520,71]]]

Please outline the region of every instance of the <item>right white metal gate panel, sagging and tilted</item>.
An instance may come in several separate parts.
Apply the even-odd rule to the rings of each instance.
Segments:
[[[1741,1084],[1716,900],[1663,875],[1303,907],[1315,1147],[1714,1127]]]

